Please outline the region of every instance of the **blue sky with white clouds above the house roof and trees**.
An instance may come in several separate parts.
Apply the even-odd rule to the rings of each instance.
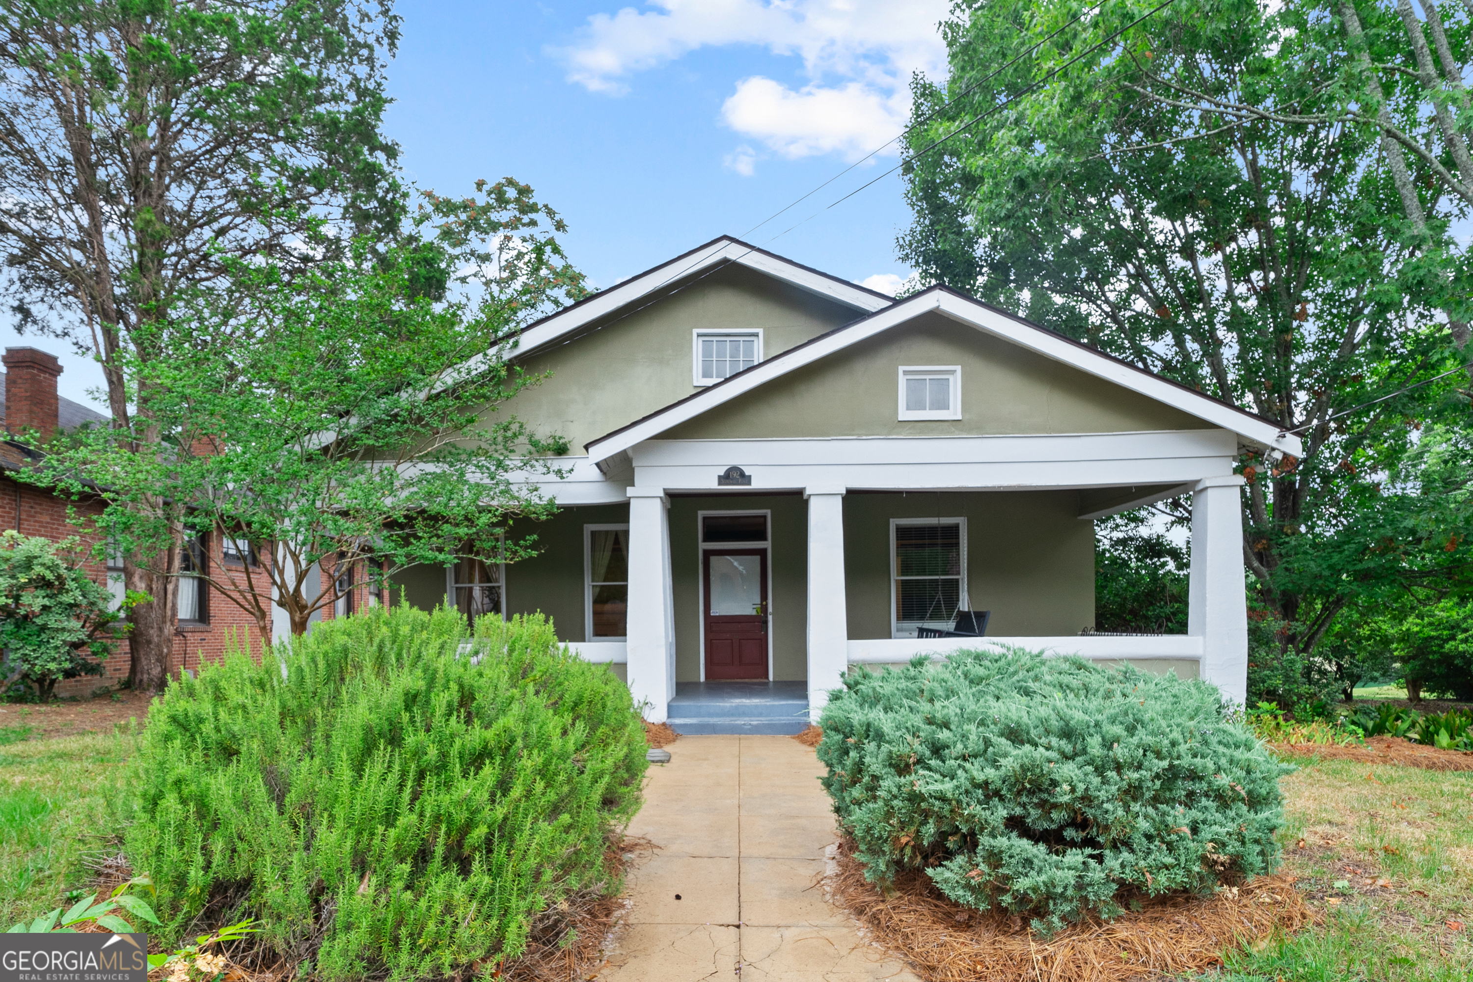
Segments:
[[[570,225],[564,244],[608,287],[728,233],[741,236],[899,134],[913,71],[944,72],[946,3],[660,0],[398,4],[387,131],[404,172],[440,194],[516,177]],[[884,289],[909,271],[897,175],[767,241],[894,165],[862,165],[750,241]],[[878,277],[871,280],[872,277]],[[49,337],[62,395],[100,372]]]

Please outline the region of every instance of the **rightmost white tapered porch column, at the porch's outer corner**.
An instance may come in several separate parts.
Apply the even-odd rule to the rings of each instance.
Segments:
[[[1202,637],[1202,677],[1237,705],[1248,699],[1248,601],[1237,474],[1205,477],[1192,492],[1187,633]]]

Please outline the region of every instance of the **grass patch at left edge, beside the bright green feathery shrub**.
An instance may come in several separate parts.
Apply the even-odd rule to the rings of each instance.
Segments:
[[[0,930],[62,904],[113,832],[127,733],[25,739],[0,730]]]

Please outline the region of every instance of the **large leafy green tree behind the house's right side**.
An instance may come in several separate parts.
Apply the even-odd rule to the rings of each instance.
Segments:
[[[1466,576],[1473,514],[1441,498],[1432,520],[1407,467],[1424,421],[1464,414],[1466,395],[1455,375],[1392,395],[1461,364],[1439,319],[1466,283],[1448,230],[1464,205],[1433,190],[1423,222],[1405,219],[1374,127],[1142,91],[1168,78],[1242,105],[1326,105],[1349,54],[1323,12],[1178,0],[1130,27],[1149,9],[959,4],[950,78],[913,84],[900,249],[921,281],[1302,433],[1302,458],[1245,449],[1237,470],[1255,593],[1308,655],[1354,599]]]

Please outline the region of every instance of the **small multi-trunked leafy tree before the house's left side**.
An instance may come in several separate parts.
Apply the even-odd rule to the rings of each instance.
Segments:
[[[300,635],[345,592],[408,565],[523,558],[535,537],[508,521],[554,511],[524,481],[561,473],[567,442],[499,405],[541,380],[507,358],[520,327],[585,293],[561,231],[508,178],[464,199],[426,193],[398,243],[355,239],[292,275],[227,258],[228,292],[177,305],[190,322],[171,337],[218,319],[231,347],[162,339],[165,356],[124,361],[153,393],[158,452],[121,428],[81,430],[47,443],[37,470],[97,489],[97,524],[128,548],[168,536],[134,498],[180,502],[184,529],[243,559],[194,574],[262,637],[273,604]]]

